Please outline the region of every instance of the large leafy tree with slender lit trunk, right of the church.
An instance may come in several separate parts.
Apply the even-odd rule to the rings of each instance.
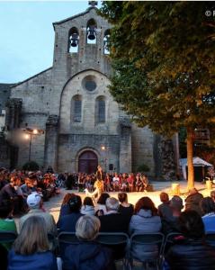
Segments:
[[[215,122],[215,4],[105,1],[112,23],[115,100],[140,127],[187,133],[188,188],[194,186],[194,130]]]

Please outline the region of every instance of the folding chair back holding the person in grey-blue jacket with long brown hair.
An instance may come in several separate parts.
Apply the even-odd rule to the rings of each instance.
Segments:
[[[134,233],[130,237],[130,266],[138,261],[148,266],[155,264],[157,269],[161,268],[161,255],[164,246],[165,235],[157,233]]]

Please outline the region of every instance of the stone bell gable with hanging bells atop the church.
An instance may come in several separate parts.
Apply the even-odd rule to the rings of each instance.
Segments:
[[[53,23],[53,68],[61,74],[64,71],[66,80],[87,68],[110,75],[107,56],[112,26],[96,13],[97,1],[89,1],[89,5],[84,13]]]

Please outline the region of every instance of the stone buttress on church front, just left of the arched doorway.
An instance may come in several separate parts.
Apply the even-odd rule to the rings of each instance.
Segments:
[[[45,138],[45,155],[44,169],[52,166],[53,170],[57,170],[58,159],[58,115],[49,115],[46,122],[46,138]]]

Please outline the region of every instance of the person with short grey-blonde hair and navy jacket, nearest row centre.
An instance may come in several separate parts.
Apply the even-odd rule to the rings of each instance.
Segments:
[[[112,251],[94,241],[100,220],[92,215],[79,218],[76,223],[77,245],[69,245],[63,257],[63,270],[115,270]]]

